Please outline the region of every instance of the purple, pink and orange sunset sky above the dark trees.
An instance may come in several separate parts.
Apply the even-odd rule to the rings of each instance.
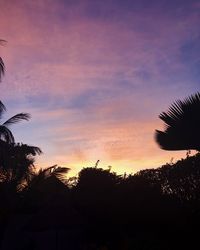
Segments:
[[[158,116],[200,87],[200,0],[0,0],[4,119],[36,166],[135,173],[185,157],[161,150]]]

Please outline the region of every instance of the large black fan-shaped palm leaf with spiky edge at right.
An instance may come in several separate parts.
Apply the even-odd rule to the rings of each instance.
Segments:
[[[159,118],[165,131],[156,130],[155,139],[165,150],[200,150],[200,93],[175,101]]]

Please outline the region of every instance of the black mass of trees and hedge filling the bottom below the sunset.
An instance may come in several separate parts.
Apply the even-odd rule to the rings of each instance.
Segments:
[[[27,216],[18,222],[29,235],[19,239],[20,249],[40,249],[33,244],[37,233],[49,230],[66,238],[58,249],[193,249],[198,243],[199,153],[134,175],[90,167],[65,178],[68,169],[56,166],[29,170],[16,181],[0,169],[1,241],[15,216]]]

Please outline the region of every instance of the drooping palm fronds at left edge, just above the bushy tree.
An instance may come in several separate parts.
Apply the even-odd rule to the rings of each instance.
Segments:
[[[3,105],[3,103],[0,101],[0,119],[2,118],[2,115],[5,111],[6,111],[6,108]],[[12,132],[9,129],[9,126],[17,122],[20,122],[22,120],[28,121],[30,117],[31,116],[28,113],[19,113],[17,115],[14,115],[7,121],[5,121],[2,125],[0,125],[0,140],[5,141],[7,143],[14,143],[15,139],[14,139]]]

